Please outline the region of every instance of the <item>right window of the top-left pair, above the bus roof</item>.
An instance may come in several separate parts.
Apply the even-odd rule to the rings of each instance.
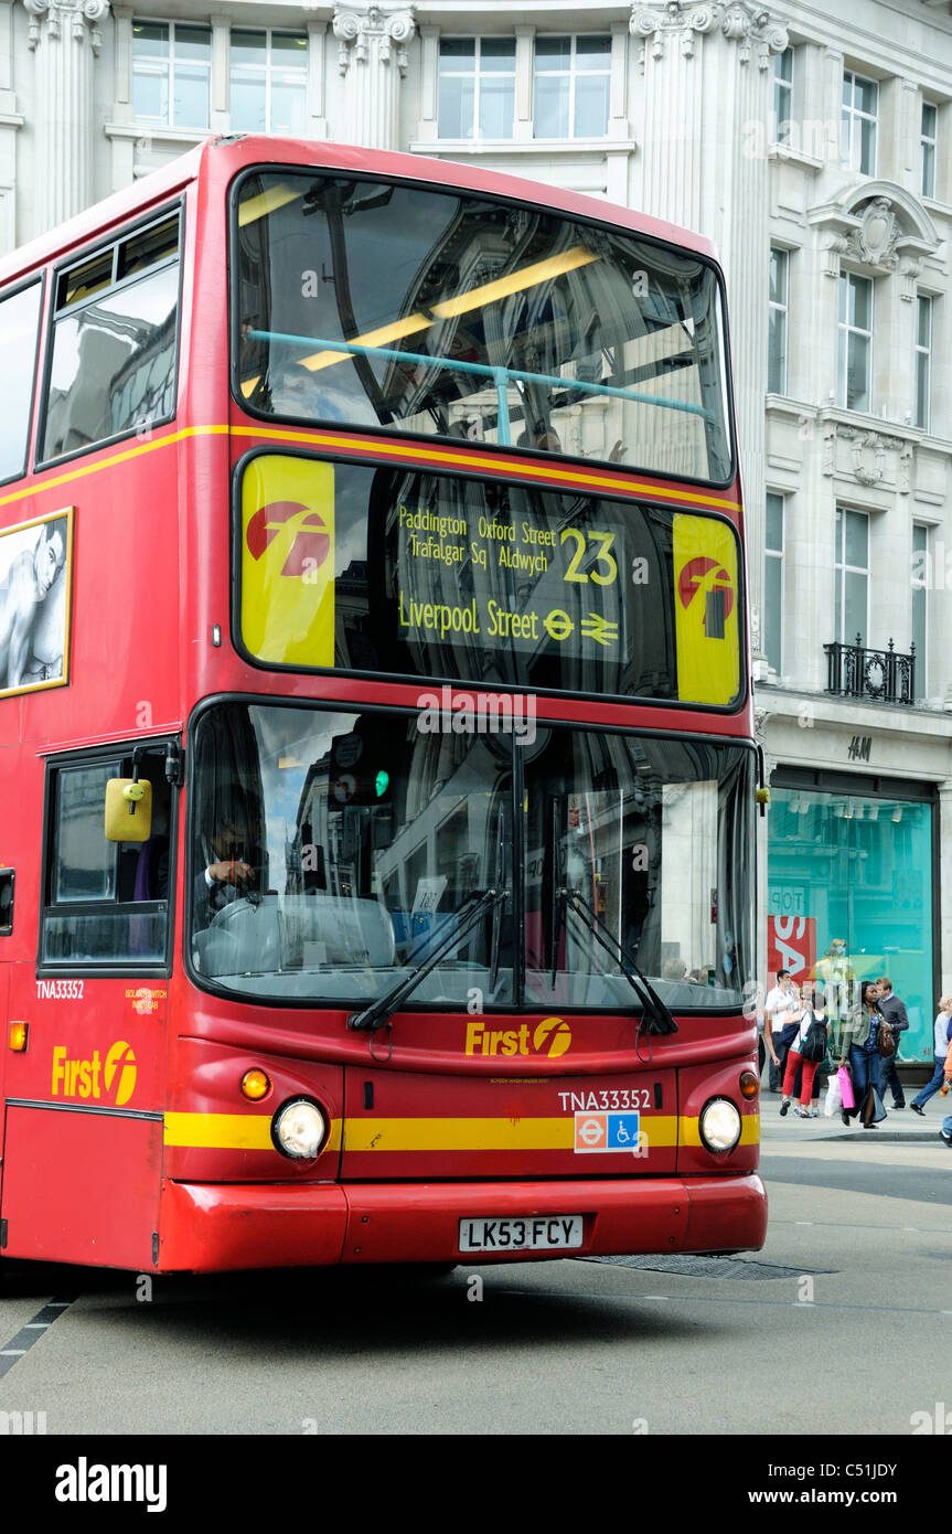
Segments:
[[[307,57],[307,32],[231,32],[228,101],[236,133],[305,132]]]

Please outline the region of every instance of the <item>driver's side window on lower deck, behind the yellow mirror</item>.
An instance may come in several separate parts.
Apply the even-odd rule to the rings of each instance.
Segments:
[[[49,778],[48,888],[41,962],[75,968],[164,966],[169,939],[172,788],[166,747],[138,762],[152,784],[152,834],[112,842],[104,834],[106,784],[132,778],[132,755],[57,767]]]

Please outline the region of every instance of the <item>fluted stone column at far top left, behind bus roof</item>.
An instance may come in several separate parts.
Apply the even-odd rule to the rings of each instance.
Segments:
[[[92,77],[109,0],[23,0],[35,54],[35,233],[94,201]]]

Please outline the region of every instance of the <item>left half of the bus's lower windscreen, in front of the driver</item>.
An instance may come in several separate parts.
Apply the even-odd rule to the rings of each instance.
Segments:
[[[238,989],[369,1000],[510,881],[510,752],[415,718],[230,706],[198,732],[192,948]],[[487,917],[415,1000],[512,997],[510,919]]]

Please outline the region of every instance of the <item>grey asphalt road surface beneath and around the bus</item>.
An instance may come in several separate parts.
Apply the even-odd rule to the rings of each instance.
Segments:
[[[48,1434],[909,1436],[952,1407],[952,1152],[768,1143],[762,1170],[767,1246],[713,1276],[556,1261],[138,1299],[127,1275],[15,1269],[0,1350],[71,1302],[0,1351],[0,1413],[43,1411]]]

